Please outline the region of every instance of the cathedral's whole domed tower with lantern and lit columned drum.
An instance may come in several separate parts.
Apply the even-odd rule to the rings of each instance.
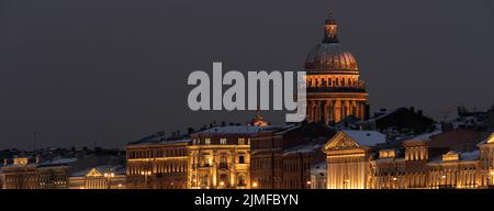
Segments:
[[[368,93],[359,79],[353,55],[338,41],[338,25],[328,15],[324,40],[305,60],[307,85],[307,121],[337,123],[353,115],[363,120]]]

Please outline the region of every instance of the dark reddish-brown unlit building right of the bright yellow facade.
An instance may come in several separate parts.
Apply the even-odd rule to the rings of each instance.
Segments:
[[[310,168],[324,162],[321,151],[336,132],[321,123],[300,123],[250,138],[250,180],[262,189],[311,188]]]

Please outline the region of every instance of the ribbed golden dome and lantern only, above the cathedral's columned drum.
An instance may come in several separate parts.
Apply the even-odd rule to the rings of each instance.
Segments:
[[[329,16],[325,22],[325,36],[305,60],[305,70],[311,71],[358,71],[353,55],[339,43],[338,25]]]

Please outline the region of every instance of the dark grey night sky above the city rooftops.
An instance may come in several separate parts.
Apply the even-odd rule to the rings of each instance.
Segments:
[[[123,147],[252,112],[191,112],[189,73],[302,70],[328,9],[373,109],[494,102],[492,0],[0,1],[0,148]],[[283,113],[265,113],[279,123]]]

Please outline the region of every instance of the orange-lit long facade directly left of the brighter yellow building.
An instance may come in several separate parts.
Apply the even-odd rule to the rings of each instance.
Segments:
[[[186,189],[189,171],[187,137],[157,133],[126,146],[127,188]]]

